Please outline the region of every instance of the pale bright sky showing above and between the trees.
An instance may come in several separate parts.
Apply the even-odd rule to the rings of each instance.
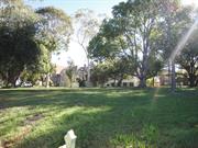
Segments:
[[[64,10],[68,15],[73,15],[79,9],[90,9],[96,13],[111,15],[112,7],[127,0],[24,0],[26,4],[34,9],[53,5]],[[198,0],[182,0],[184,4],[195,3]],[[52,62],[58,66],[67,66],[67,61],[73,59],[75,65],[84,66],[87,58],[82,48],[75,42],[70,41],[67,52],[61,52],[58,56],[53,55]]]

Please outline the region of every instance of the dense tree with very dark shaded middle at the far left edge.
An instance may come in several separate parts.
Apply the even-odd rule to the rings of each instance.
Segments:
[[[0,11],[0,75],[6,86],[15,86],[21,71],[37,60],[37,15],[22,3],[3,4]]]

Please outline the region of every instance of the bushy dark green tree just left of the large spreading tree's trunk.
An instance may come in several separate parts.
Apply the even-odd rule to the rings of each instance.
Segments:
[[[89,42],[88,53],[95,61],[108,66],[108,77],[118,80],[118,87],[125,75],[130,73],[131,64],[125,53],[127,43],[122,35],[113,31],[114,20],[105,20],[99,33]]]

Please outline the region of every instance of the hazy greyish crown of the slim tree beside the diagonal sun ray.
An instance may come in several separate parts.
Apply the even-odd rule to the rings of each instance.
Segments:
[[[191,24],[189,15],[193,8],[180,8],[178,0],[162,1],[162,4],[164,8],[161,9],[160,14],[164,18],[164,21],[158,25],[161,35],[158,36],[157,46],[162,49],[162,56],[167,61],[170,59],[180,36],[186,33]],[[173,8],[169,5],[173,5]]]

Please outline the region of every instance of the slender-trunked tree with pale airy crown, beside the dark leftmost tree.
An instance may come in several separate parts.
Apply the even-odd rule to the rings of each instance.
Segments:
[[[51,56],[53,53],[68,48],[73,27],[70,18],[63,10],[47,7],[36,10],[36,13],[43,19],[38,24],[36,37],[47,56],[43,71],[46,76],[46,87],[50,87]]]

